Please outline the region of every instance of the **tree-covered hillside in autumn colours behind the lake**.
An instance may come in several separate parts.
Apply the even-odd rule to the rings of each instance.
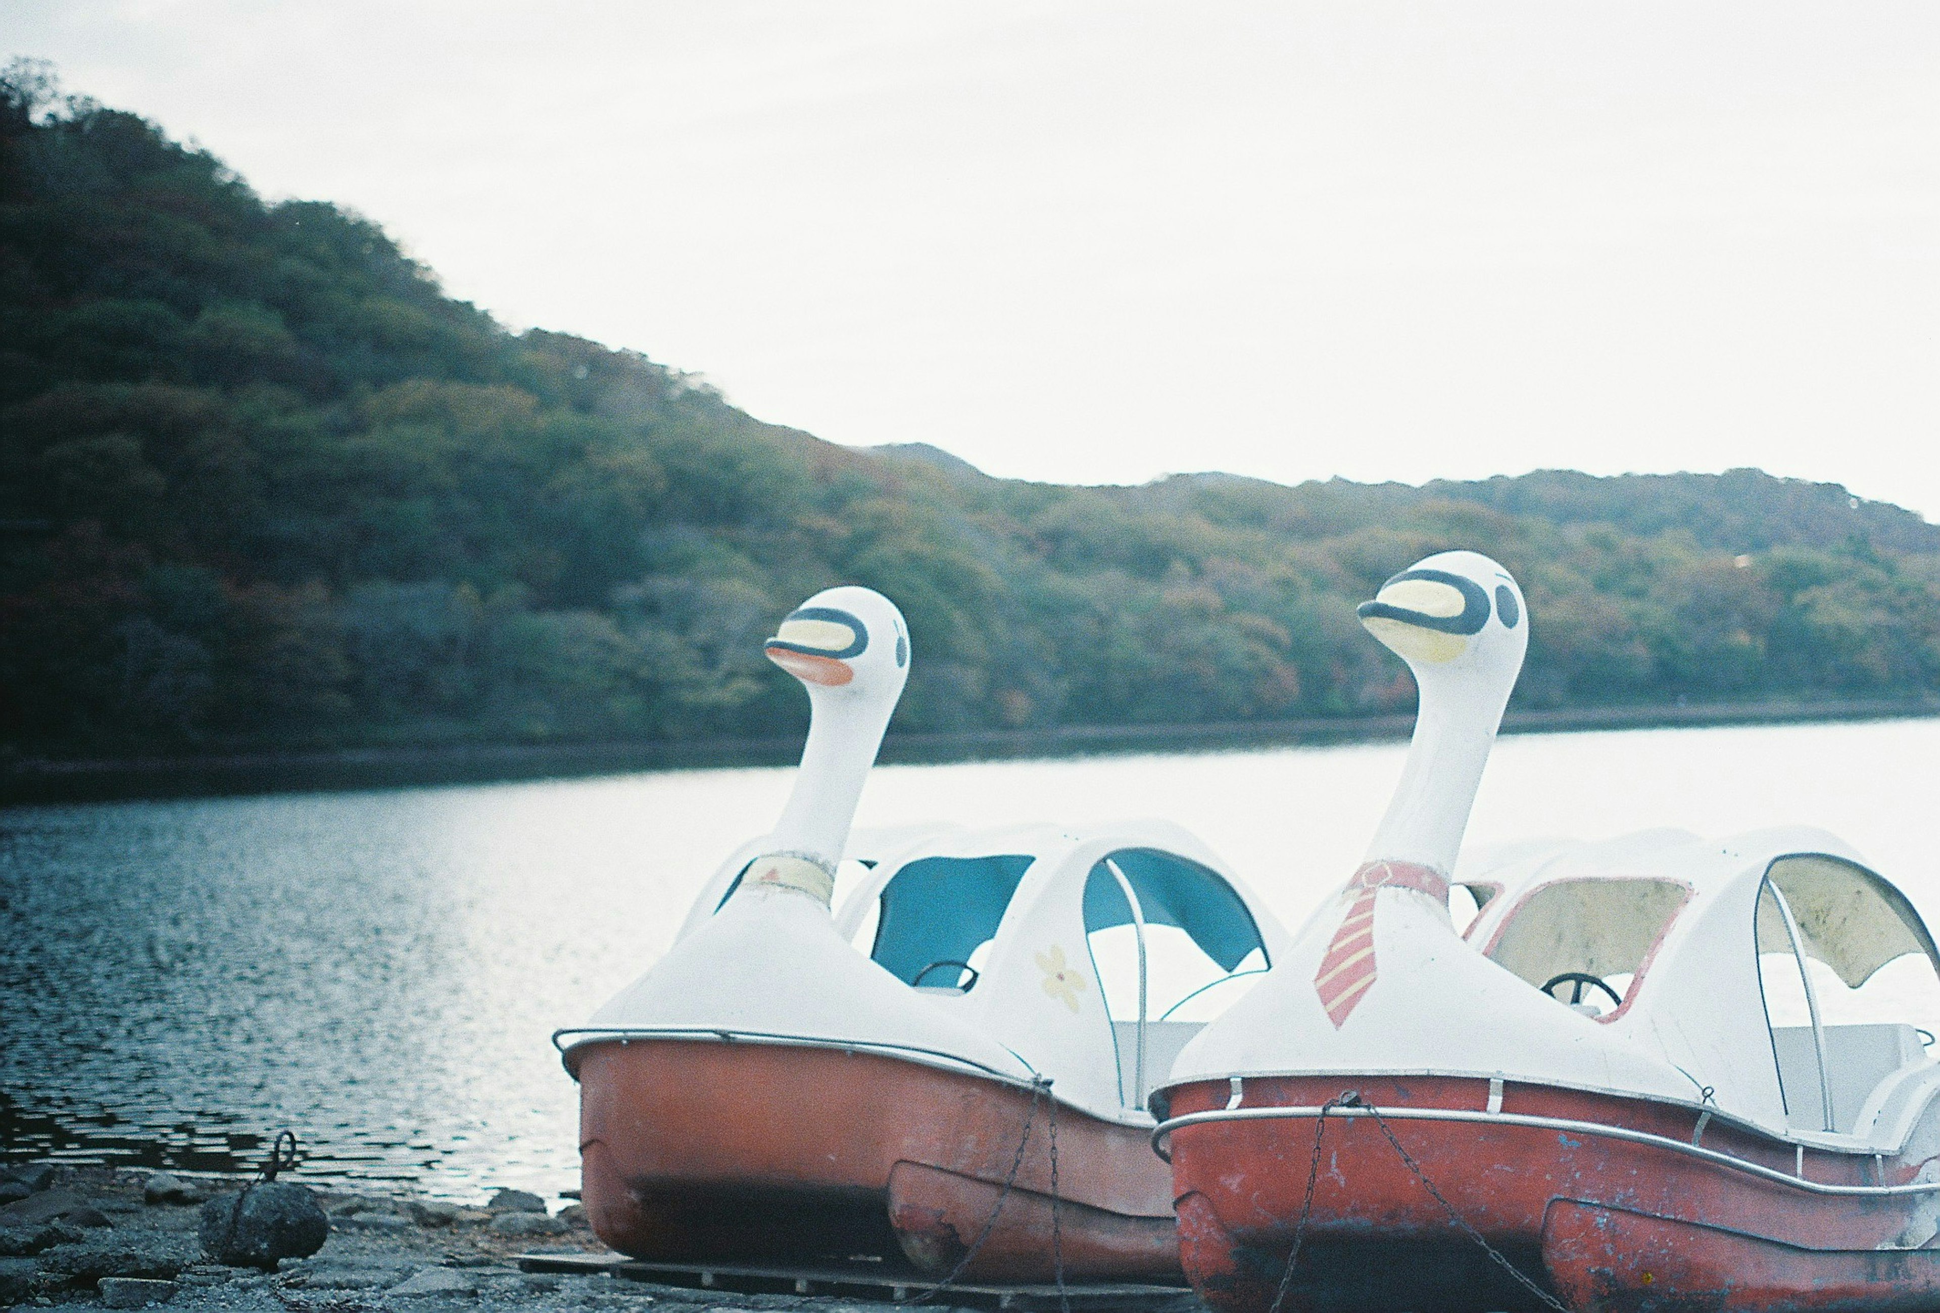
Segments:
[[[1354,603],[1457,545],[1525,584],[1529,706],[1940,687],[1940,529],[1839,487],[1051,487],[838,448],[512,334],[31,66],[0,101],[16,753],[782,733],[760,638],[834,582],[910,619],[902,729],[1387,710]]]

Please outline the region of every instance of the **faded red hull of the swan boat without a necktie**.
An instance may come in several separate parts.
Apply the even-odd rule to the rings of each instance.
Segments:
[[[1050,1102],[828,1047],[673,1040],[574,1049],[594,1233],[660,1261],[898,1253],[966,1278],[1055,1274]],[[1057,1107],[1057,1239],[1073,1280],[1178,1280],[1172,1173],[1139,1127]],[[1003,1199],[1003,1183],[1017,1179]],[[995,1214],[995,1222],[991,1216]]]

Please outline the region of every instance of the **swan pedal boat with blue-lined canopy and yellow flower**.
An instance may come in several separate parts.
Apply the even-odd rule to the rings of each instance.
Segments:
[[[1284,933],[1162,820],[852,836],[902,617],[830,590],[768,656],[811,700],[780,824],[555,1036],[594,1232],[650,1261],[1180,1280],[1147,1098]]]

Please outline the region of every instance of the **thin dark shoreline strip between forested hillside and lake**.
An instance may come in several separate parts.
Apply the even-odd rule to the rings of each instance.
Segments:
[[[1690,702],[1684,706],[1511,710],[1504,718],[1504,733],[1777,725],[1928,716],[1940,716],[1940,698],[1769,698],[1762,702]],[[900,733],[883,743],[881,760],[941,764],[1379,743],[1405,737],[1412,725],[1414,714],[1401,712],[1212,725],[1065,725],[1057,729]],[[640,770],[788,766],[795,762],[799,753],[799,739],[778,737],[691,743],[380,747],[101,760],[21,758],[0,764],[0,807],[572,780]]]

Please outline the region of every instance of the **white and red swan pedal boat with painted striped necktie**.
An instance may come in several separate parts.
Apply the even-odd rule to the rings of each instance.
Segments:
[[[1913,904],[1812,828],[1457,871],[1521,607],[1441,642],[1474,607],[1397,582],[1474,601],[1494,562],[1449,557],[1362,609],[1422,694],[1368,863],[1154,1096],[1193,1288],[1222,1313],[1940,1307]],[[1467,935],[1451,884],[1482,900]]]

